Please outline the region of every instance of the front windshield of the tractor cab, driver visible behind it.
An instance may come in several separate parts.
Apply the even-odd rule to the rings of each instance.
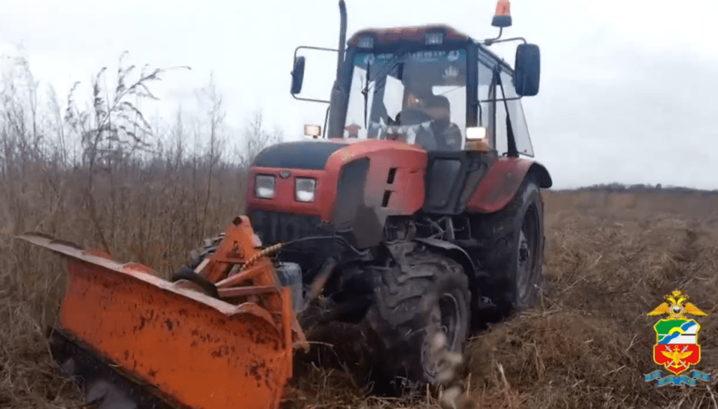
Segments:
[[[344,137],[395,139],[426,150],[462,149],[466,67],[465,50],[358,53]]]

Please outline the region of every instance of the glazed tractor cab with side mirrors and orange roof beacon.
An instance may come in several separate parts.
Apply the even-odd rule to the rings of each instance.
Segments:
[[[493,25],[502,31],[510,26],[508,1],[498,2]],[[512,40],[523,41],[514,68],[488,50]],[[429,152],[533,156],[521,97],[538,93],[536,45],[500,34],[477,42],[437,24],[364,29],[344,47],[341,39],[332,99],[326,101],[326,138],[389,139]],[[292,95],[302,99],[297,93],[304,57],[296,52],[292,76]]]

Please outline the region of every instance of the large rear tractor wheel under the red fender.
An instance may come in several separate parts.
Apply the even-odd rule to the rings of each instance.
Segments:
[[[490,276],[485,291],[500,317],[528,309],[544,274],[544,202],[536,181],[527,177],[516,197],[482,224],[488,245],[481,264]]]

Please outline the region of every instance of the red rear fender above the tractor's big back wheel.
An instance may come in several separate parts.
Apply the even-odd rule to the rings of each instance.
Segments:
[[[524,158],[496,160],[469,199],[467,210],[473,213],[498,212],[513,199],[527,175],[536,179],[538,187],[545,189],[553,185],[549,171],[537,161]]]

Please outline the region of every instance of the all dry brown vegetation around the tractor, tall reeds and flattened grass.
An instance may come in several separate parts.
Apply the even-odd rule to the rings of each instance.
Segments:
[[[37,86],[21,86],[27,75],[4,84],[0,407],[77,408],[78,390],[55,375],[45,344],[64,264],[12,235],[39,230],[82,245],[104,241],[116,258],[168,273],[241,212],[246,156],[223,155],[233,134],[223,126],[220,98],[208,92],[209,125],[188,126],[180,117],[153,126],[153,136],[141,135],[152,141],[149,149],[110,149],[90,174],[83,156],[73,159],[71,140],[81,135],[55,115],[59,108],[37,108]],[[27,96],[32,90],[35,98]],[[271,141],[261,117],[247,133],[238,152]],[[187,146],[198,135],[214,137]],[[461,377],[465,408],[718,409],[718,195],[544,192],[544,199],[549,247],[541,304],[472,339]],[[643,381],[658,369],[655,319],[645,314],[675,288],[709,313],[699,319],[698,369],[713,380],[696,387]],[[309,367],[292,386],[294,402],[306,408],[439,408],[431,395],[370,397],[342,370]]]

